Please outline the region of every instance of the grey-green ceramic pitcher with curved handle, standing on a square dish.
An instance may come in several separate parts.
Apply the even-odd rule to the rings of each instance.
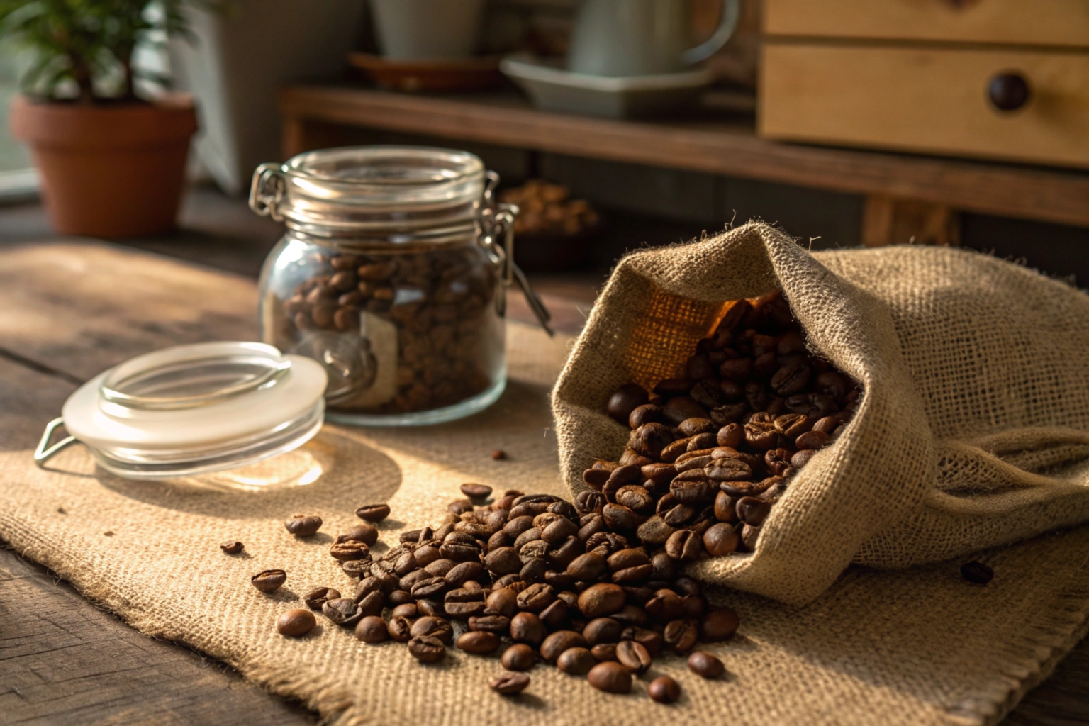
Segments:
[[[722,21],[688,48],[685,0],[583,0],[567,67],[603,76],[678,73],[722,48],[734,33],[741,0],[722,0]]]

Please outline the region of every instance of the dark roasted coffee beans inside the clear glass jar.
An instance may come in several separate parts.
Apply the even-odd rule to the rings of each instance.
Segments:
[[[392,356],[395,389],[377,404],[342,401],[334,408],[399,414],[469,398],[492,383],[497,356],[490,330],[498,324],[490,309],[495,278],[481,255],[476,245],[420,254],[310,255],[310,276],[274,312],[276,343],[307,354],[315,345],[307,341],[317,335],[321,345],[335,348],[338,335],[360,334],[369,313],[392,325],[396,349],[370,353],[378,365]],[[377,345],[381,336],[370,333],[366,342]]]

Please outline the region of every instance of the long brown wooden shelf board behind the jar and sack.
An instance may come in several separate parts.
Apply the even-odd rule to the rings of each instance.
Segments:
[[[888,216],[889,200],[904,200],[1089,226],[1086,173],[784,144],[757,137],[751,116],[727,112],[616,121],[538,111],[515,94],[437,97],[319,85],[283,89],[280,110],[286,156],[327,145],[330,125],[362,126],[862,194],[874,219]]]

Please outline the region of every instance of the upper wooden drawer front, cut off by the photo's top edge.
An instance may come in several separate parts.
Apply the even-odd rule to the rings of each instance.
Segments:
[[[1087,0],[764,0],[764,32],[1089,47]]]

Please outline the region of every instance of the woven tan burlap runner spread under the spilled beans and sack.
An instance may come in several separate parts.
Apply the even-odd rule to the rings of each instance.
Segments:
[[[567,342],[517,324],[510,332],[513,380],[494,407],[428,429],[327,427],[306,450],[328,467],[309,487],[186,491],[96,473],[81,447],[50,471],[29,451],[4,453],[0,537],[142,631],[220,657],[339,724],[987,724],[1084,635],[1089,528],[989,554],[996,576],[986,588],[950,562],[852,568],[803,608],[718,593],[743,619],[737,637],[709,648],[731,675],[703,681],[681,659],[660,659],[650,675],[684,688],[673,706],[650,702],[641,685],[607,696],[549,666],[531,672],[526,694],[504,699],[487,687],[495,656],[452,650],[442,665],[421,666],[401,643],[365,645],[327,624],[302,640],[278,636],[277,615],[306,590],[350,587],[326,551],[357,505],[389,501],[382,541],[394,542],[401,527],[438,521],[464,481],[563,491],[547,392]],[[495,447],[511,458],[491,460]],[[296,512],[320,515],[322,533],[290,537],[281,520]],[[243,557],[219,551],[229,538],[246,543]],[[248,583],[266,567],[289,573],[273,595]]]

